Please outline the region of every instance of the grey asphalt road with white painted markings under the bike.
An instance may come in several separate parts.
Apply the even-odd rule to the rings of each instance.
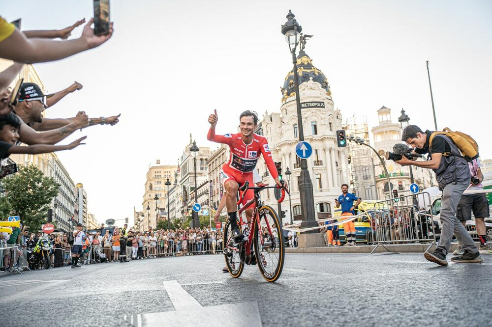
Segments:
[[[221,255],[56,268],[0,278],[2,326],[488,326],[492,255],[286,254],[276,283]],[[448,256],[449,260],[449,256]]]

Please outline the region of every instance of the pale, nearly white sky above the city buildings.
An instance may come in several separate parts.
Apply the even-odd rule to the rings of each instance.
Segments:
[[[0,15],[23,29],[60,29],[92,16],[92,1],[0,0]],[[280,32],[289,9],[314,35],[306,52],[327,76],[345,118],[404,108],[411,123],[433,129],[426,60],[439,129],[472,135],[492,157],[491,1],[185,1],[113,0],[115,34],[100,48],[35,69],[49,92],[74,80],[84,88],[48,109],[48,118],[122,113],[115,126],[95,126],[87,145],[60,153],[88,193],[96,219],[141,209],[151,162],[177,164],[193,134],[206,139],[217,109],[218,133],[236,131],[239,113],[278,111],[279,86],[292,69]],[[82,27],[72,33],[78,37]],[[372,142],[372,139],[371,139]]]

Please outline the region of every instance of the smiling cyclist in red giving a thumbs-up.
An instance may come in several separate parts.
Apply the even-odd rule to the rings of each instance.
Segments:
[[[243,239],[243,234],[238,227],[236,194],[240,186],[246,181],[253,184],[253,170],[256,166],[260,153],[267,164],[270,174],[275,179],[279,187],[284,187],[278,179],[277,167],[272,159],[272,152],[268,148],[267,139],[263,136],[254,134],[258,126],[258,117],[254,112],[246,110],[239,116],[239,128],[241,133],[215,135],[215,125],[217,125],[217,110],[209,116],[210,130],[207,135],[209,141],[229,145],[231,155],[226,164],[222,166],[223,186],[227,191],[227,214],[231,222],[232,238],[236,241]],[[253,191],[248,190],[243,199],[243,204],[253,198]],[[254,207],[246,209],[246,218],[249,221]]]

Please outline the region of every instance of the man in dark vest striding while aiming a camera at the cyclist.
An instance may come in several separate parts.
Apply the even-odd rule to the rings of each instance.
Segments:
[[[448,264],[446,255],[449,251],[454,231],[464,253],[461,256],[452,257],[451,261],[457,263],[483,262],[470,234],[456,218],[456,208],[460,202],[461,195],[470,184],[471,176],[468,163],[461,157],[443,155],[444,153],[460,153],[454,142],[445,135],[435,135],[432,139],[432,146],[429,146],[431,135],[431,131],[423,132],[416,125],[405,127],[401,134],[401,140],[415,148],[416,153],[429,153],[429,158],[427,161],[412,161],[402,156],[401,160],[396,161],[396,163],[403,166],[414,165],[434,170],[439,188],[442,190],[441,238],[437,248],[432,252],[424,253],[424,257],[438,265],[446,266]]]

